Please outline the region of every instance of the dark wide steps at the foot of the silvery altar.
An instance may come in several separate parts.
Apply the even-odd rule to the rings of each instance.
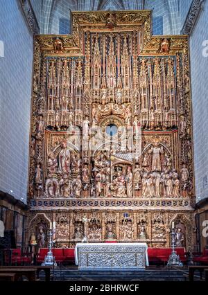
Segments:
[[[86,270],[56,268],[52,271],[53,280],[67,281],[142,281],[142,280],[186,280],[187,269],[146,269],[146,270]]]

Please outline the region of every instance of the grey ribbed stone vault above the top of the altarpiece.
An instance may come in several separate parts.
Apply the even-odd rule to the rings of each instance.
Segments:
[[[164,17],[164,33],[179,33],[179,0],[31,0],[33,8],[38,11],[41,33],[58,33],[55,21],[58,17],[69,18],[69,10],[139,10],[153,9],[154,15]],[[39,6],[38,9],[36,6]]]

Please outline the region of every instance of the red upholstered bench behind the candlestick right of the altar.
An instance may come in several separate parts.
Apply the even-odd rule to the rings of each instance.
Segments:
[[[177,255],[180,256],[180,260],[182,262],[187,260],[185,255],[184,248],[176,248],[175,249]],[[172,253],[171,248],[148,248],[148,259],[149,262],[153,263],[165,263],[168,262],[168,258]]]

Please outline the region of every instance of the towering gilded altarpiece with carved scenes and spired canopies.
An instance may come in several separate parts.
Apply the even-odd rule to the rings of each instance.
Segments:
[[[150,10],[72,16],[71,35],[34,39],[28,239],[55,222],[74,247],[86,216],[89,242],[170,247],[174,222],[191,249],[187,36],[152,36]]]

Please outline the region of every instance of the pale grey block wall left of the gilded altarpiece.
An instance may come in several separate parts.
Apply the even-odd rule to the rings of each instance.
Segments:
[[[0,7],[0,190],[26,202],[33,36],[17,1]]]

